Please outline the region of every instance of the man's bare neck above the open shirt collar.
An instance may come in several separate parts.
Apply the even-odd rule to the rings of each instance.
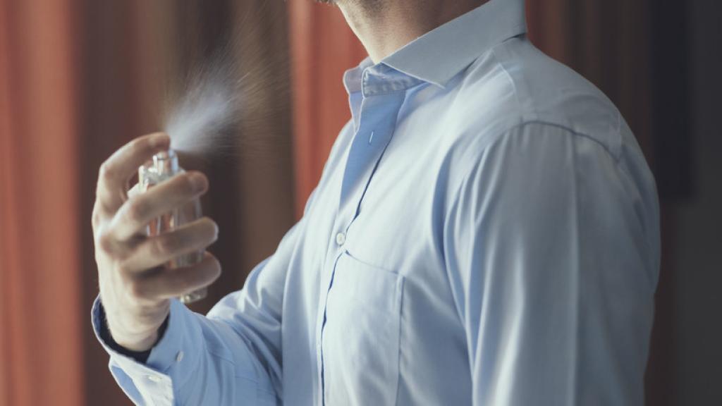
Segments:
[[[346,21],[374,63],[489,0],[340,0]]]

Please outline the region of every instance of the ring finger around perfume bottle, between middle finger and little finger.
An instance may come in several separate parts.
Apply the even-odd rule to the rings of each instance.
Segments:
[[[204,251],[218,238],[213,220],[203,217],[175,230],[142,240],[123,262],[128,272],[159,267],[178,256]]]

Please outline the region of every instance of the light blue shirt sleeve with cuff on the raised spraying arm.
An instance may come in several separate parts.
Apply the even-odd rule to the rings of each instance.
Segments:
[[[145,363],[103,340],[97,299],[93,328],[123,392],[136,405],[277,405],[282,295],[301,228],[303,220],[251,271],[243,290],[227,295],[208,316],[171,301],[168,327]]]

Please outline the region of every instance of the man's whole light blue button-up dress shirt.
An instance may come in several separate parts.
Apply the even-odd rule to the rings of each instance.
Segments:
[[[642,405],[655,183],[614,105],[525,32],[523,1],[492,0],[347,72],[353,118],[243,290],[207,316],[173,301],[146,364],[103,343],[129,397]]]

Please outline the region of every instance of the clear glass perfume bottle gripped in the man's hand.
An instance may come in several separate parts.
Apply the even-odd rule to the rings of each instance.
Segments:
[[[183,173],[183,168],[178,165],[178,155],[175,154],[175,151],[158,152],[156,155],[153,155],[153,160],[148,161],[145,165],[138,168],[139,191],[144,193],[158,183],[173,178],[173,176],[179,173]],[[199,199],[193,199],[192,202],[157,217],[150,222],[147,225],[146,233],[148,236],[157,236],[173,230],[173,228],[197,220],[200,217],[201,202]],[[191,254],[178,256],[168,262],[166,266],[170,268],[188,267],[201,262],[202,259],[203,251],[196,251]],[[185,293],[178,299],[183,303],[191,303],[205,298],[206,294],[206,288],[201,288],[193,292]]]

